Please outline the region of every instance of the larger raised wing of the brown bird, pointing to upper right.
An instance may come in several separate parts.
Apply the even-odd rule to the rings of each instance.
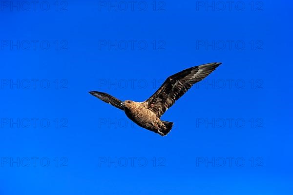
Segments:
[[[206,78],[222,63],[194,66],[168,77],[162,86],[146,100],[148,109],[161,117],[190,87]]]

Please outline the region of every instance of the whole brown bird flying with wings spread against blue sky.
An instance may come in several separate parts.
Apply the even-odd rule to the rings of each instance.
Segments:
[[[125,111],[125,114],[137,125],[166,136],[172,129],[173,122],[161,120],[162,115],[177,99],[183,96],[190,87],[206,78],[222,63],[209,63],[194,66],[168,77],[162,86],[146,101],[121,101],[109,94],[97,91],[89,93],[106,103]]]

